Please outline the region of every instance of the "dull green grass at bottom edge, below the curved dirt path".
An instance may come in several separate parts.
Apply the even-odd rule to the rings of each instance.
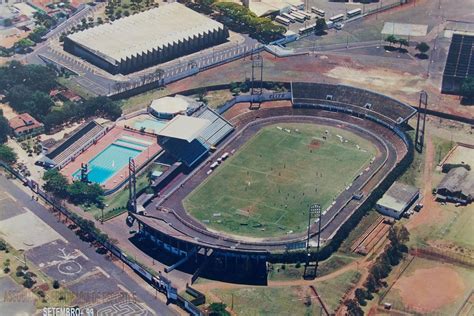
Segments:
[[[311,299],[308,287],[247,287],[239,289],[216,289],[211,291],[239,316],[255,315],[319,315],[319,304]]]

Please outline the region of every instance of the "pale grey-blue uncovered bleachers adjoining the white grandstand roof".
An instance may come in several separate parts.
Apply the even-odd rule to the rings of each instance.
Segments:
[[[211,122],[211,124],[200,134],[200,138],[211,146],[215,146],[220,143],[234,130],[234,127],[227,120],[207,106],[204,106],[199,109],[199,111],[196,111],[193,116],[203,118]]]

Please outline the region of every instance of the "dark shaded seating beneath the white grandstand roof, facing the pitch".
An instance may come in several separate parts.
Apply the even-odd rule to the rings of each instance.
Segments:
[[[200,161],[209,152],[209,147],[199,139],[187,142],[178,138],[161,137],[158,139],[158,143],[168,153],[188,167],[194,166],[195,163]]]

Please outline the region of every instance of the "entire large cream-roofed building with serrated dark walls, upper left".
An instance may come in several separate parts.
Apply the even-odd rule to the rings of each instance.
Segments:
[[[110,73],[128,74],[228,37],[223,24],[175,2],[71,34],[64,50]]]

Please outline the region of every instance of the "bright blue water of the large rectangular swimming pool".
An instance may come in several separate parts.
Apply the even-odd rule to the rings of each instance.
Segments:
[[[117,171],[128,164],[129,158],[135,158],[141,152],[142,150],[121,146],[116,143],[109,145],[88,162],[89,181],[104,184]],[[73,178],[80,178],[80,172],[80,170],[74,172]]]

